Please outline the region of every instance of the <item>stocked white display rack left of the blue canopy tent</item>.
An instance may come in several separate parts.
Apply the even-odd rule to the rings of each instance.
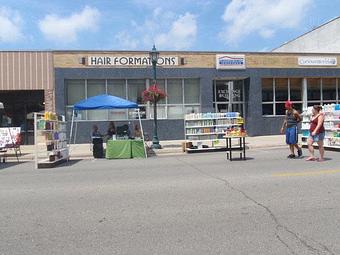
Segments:
[[[51,168],[69,160],[66,121],[50,112],[34,114],[35,168]]]

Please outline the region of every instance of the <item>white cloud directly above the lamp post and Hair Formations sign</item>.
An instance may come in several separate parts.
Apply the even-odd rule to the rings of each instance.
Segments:
[[[131,21],[131,29],[115,37],[121,48],[149,49],[153,44],[160,50],[189,49],[197,37],[196,16],[187,12],[177,16],[156,8],[142,24]]]

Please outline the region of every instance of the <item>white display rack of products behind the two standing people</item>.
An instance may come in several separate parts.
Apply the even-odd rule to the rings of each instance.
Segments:
[[[307,146],[309,137],[310,118],[312,116],[312,106],[303,112],[302,119],[302,146]],[[340,104],[328,104],[323,106],[325,114],[324,127],[325,139],[324,147],[340,150]]]

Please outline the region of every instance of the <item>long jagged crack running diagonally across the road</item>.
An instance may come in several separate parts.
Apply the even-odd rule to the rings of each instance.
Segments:
[[[245,193],[243,190],[241,189],[238,189],[236,187],[234,187],[228,180],[226,179],[223,179],[221,177],[218,177],[218,176],[214,176],[212,174],[209,174],[205,171],[203,171],[202,169],[198,168],[197,166],[193,165],[193,164],[190,164],[186,161],[183,161],[179,158],[177,158],[178,161],[190,166],[192,169],[194,169],[195,171],[201,173],[202,175],[205,175],[207,177],[210,177],[212,179],[215,179],[215,180],[218,180],[218,181],[221,181],[224,183],[225,186],[227,186],[228,188],[230,188],[231,190],[235,191],[235,192],[238,192],[240,194],[242,194],[247,200],[251,201],[253,204],[255,204],[256,206],[258,207],[261,207],[263,208],[267,214],[269,214],[269,216],[272,218],[272,220],[274,221],[276,227],[275,227],[275,237],[276,239],[282,243],[289,251],[291,254],[293,255],[298,255],[298,253],[296,253],[294,251],[294,249],[292,247],[289,246],[288,243],[286,243],[284,240],[283,240],[283,236],[280,235],[280,230],[282,231],[285,231],[286,233],[289,233],[295,240],[297,240],[302,246],[304,246],[305,248],[307,248],[309,251],[311,251],[313,254],[318,254],[318,255],[322,255],[322,254],[330,254],[330,255],[335,255],[335,253],[333,253],[326,245],[320,243],[320,242],[317,242],[311,238],[307,238],[305,237],[305,239],[310,239],[312,240],[314,243],[317,243],[319,246],[321,246],[321,249],[318,249],[318,248],[315,248],[313,247],[311,244],[308,244],[308,242],[303,239],[301,237],[301,235],[295,233],[294,231],[290,230],[288,227],[282,225],[279,220],[277,219],[277,217],[275,216],[275,214],[269,209],[268,206],[256,201],[254,198],[250,197],[247,193]],[[320,247],[319,247],[320,248]]]

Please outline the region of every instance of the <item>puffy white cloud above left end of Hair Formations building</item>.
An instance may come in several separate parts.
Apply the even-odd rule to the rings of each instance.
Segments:
[[[79,32],[95,30],[99,16],[96,8],[86,6],[81,12],[69,17],[47,15],[39,21],[39,28],[48,40],[70,43],[77,40]]]

